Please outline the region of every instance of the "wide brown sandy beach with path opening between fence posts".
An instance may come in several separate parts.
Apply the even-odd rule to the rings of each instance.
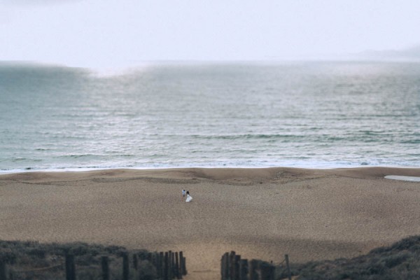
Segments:
[[[183,251],[187,279],[221,255],[351,258],[420,234],[420,169],[113,169],[0,176],[0,239]],[[185,188],[193,202],[182,200]]]

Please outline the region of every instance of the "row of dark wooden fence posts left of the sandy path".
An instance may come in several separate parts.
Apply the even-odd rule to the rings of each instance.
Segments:
[[[66,280],[76,280],[76,260],[74,258],[74,255],[66,254],[65,258]],[[182,279],[183,275],[187,274],[186,258],[183,256],[182,251],[148,253],[146,260],[148,260],[149,262],[151,262],[152,265],[155,266],[157,279]],[[139,256],[137,254],[133,254],[132,261],[134,269],[137,270],[139,268]],[[102,279],[109,280],[111,274],[109,272],[109,257],[107,255],[101,257],[101,265]],[[6,270],[6,263],[0,260],[0,280],[8,280]],[[123,253],[122,279],[128,280],[129,277],[129,254]]]

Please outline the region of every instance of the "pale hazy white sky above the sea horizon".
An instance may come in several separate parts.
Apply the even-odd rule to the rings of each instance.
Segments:
[[[0,60],[271,60],[419,43],[419,0],[0,0]]]

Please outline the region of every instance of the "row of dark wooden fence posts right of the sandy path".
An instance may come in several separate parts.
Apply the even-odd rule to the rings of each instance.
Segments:
[[[291,280],[288,255],[285,255],[288,279]],[[274,280],[276,267],[261,260],[241,259],[235,251],[225,253],[221,260],[221,280]]]

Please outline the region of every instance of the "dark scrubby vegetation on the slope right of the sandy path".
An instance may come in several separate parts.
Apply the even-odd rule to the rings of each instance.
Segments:
[[[375,248],[357,258],[290,263],[298,280],[418,280],[420,279],[420,235],[388,247]],[[287,279],[285,267],[276,268],[276,279]]]

